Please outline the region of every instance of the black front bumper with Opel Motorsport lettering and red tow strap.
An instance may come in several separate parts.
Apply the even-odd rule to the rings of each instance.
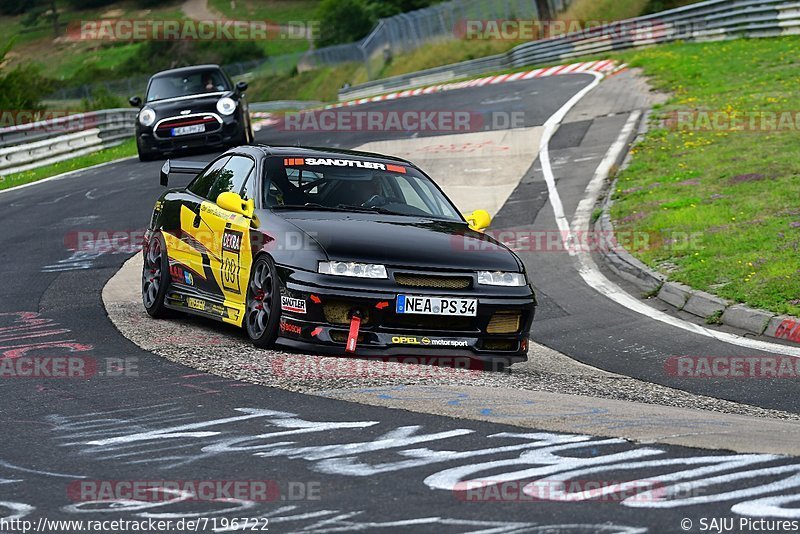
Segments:
[[[536,306],[529,286],[443,290],[395,286],[389,280],[375,284],[351,279],[342,282],[353,285],[334,286],[327,275],[280,266],[278,269],[281,295],[287,304],[282,306],[279,344],[344,354],[352,312],[358,310],[362,317],[358,343],[355,353],[347,354],[527,360],[528,331]],[[362,287],[353,287],[359,285]],[[398,314],[395,311],[398,294],[474,298],[478,301],[477,315]]]

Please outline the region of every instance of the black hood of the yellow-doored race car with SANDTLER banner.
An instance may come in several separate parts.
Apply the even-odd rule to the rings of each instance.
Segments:
[[[330,212],[273,212],[314,238],[328,258],[395,267],[521,271],[513,252],[465,223]]]

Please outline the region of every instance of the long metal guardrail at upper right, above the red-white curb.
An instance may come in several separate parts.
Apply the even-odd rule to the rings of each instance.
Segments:
[[[708,41],[800,33],[800,1],[708,0],[653,15],[519,45],[505,54],[393,76],[339,91],[339,100],[412,89],[478,74],[678,40]]]

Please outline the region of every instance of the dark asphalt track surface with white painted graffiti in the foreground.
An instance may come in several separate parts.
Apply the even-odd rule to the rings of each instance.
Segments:
[[[585,75],[557,76],[368,106],[520,111],[524,126],[533,127],[590,81]],[[576,108],[551,143],[570,215],[636,104],[608,98],[608,115],[582,119]],[[260,132],[258,140],[348,147],[397,136],[273,129]],[[100,297],[129,255],[81,253],[69,244],[81,230],[143,229],[161,191],[159,166],[128,160],[0,194],[4,356],[80,354],[98,365],[88,380],[0,381],[0,514],[6,518],[269,517],[273,532],[681,532],[682,518],[689,518],[697,532],[704,517],[735,518],[737,525],[740,518],[800,517],[790,507],[800,500],[800,462],[791,458],[725,457],[364,406],[200,374],[140,350],[110,324]],[[538,163],[495,225],[555,229]],[[663,367],[669,356],[753,353],[608,301],[585,285],[565,254],[522,257],[541,297],[532,339],[621,374],[797,411],[792,383],[669,376]],[[127,370],[119,369],[120,362]],[[558,473],[578,480],[576,495],[558,493]],[[453,491],[458,481],[474,478],[545,479],[539,488],[546,498],[486,502],[492,494],[480,493],[472,501],[465,500],[470,494]],[[590,501],[579,493],[587,488],[581,480],[640,480],[641,489],[656,478],[662,488],[681,485],[625,502],[615,495]],[[222,502],[172,494],[167,501],[110,505],[85,502],[70,491],[80,481],[264,479],[277,481],[282,499]],[[290,486],[305,494],[292,495]]]

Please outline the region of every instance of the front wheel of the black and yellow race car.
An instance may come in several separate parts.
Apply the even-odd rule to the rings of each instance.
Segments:
[[[269,256],[259,256],[250,271],[243,321],[247,337],[258,348],[271,347],[278,337],[280,300],[280,284],[275,263]]]

